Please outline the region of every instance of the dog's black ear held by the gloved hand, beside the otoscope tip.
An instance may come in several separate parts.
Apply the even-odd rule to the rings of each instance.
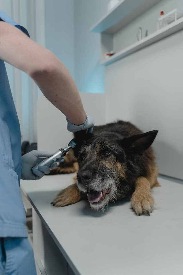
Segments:
[[[89,138],[93,137],[92,133],[87,133],[86,130],[78,131],[74,133],[74,138],[76,141],[76,146],[73,148],[74,156],[77,158],[79,154],[79,150],[84,142],[86,142]]]

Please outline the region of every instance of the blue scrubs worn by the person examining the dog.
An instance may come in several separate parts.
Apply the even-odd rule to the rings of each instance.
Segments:
[[[10,23],[29,36],[25,28],[1,10],[0,21]],[[20,177],[20,125],[5,64],[0,60],[0,275],[36,274],[33,251],[25,229]]]

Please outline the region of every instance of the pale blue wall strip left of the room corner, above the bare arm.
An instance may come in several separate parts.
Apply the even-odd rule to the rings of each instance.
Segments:
[[[74,78],[74,1],[45,0],[45,47]]]

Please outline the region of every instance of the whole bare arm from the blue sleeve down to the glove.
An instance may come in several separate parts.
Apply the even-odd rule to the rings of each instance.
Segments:
[[[84,123],[86,113],[75,83],[65,66],[49,50],[5,22],[0,22],[0,59],[31,76],[45,97],[71,123]]]

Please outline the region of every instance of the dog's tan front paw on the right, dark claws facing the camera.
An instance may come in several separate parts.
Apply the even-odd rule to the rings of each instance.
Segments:
[[[131,204],[137,215],[140,216],[142,213],[144,213],[150,216],[154,206],[154,199],[150,192],[142,193],[135,191],[132,195]]]

